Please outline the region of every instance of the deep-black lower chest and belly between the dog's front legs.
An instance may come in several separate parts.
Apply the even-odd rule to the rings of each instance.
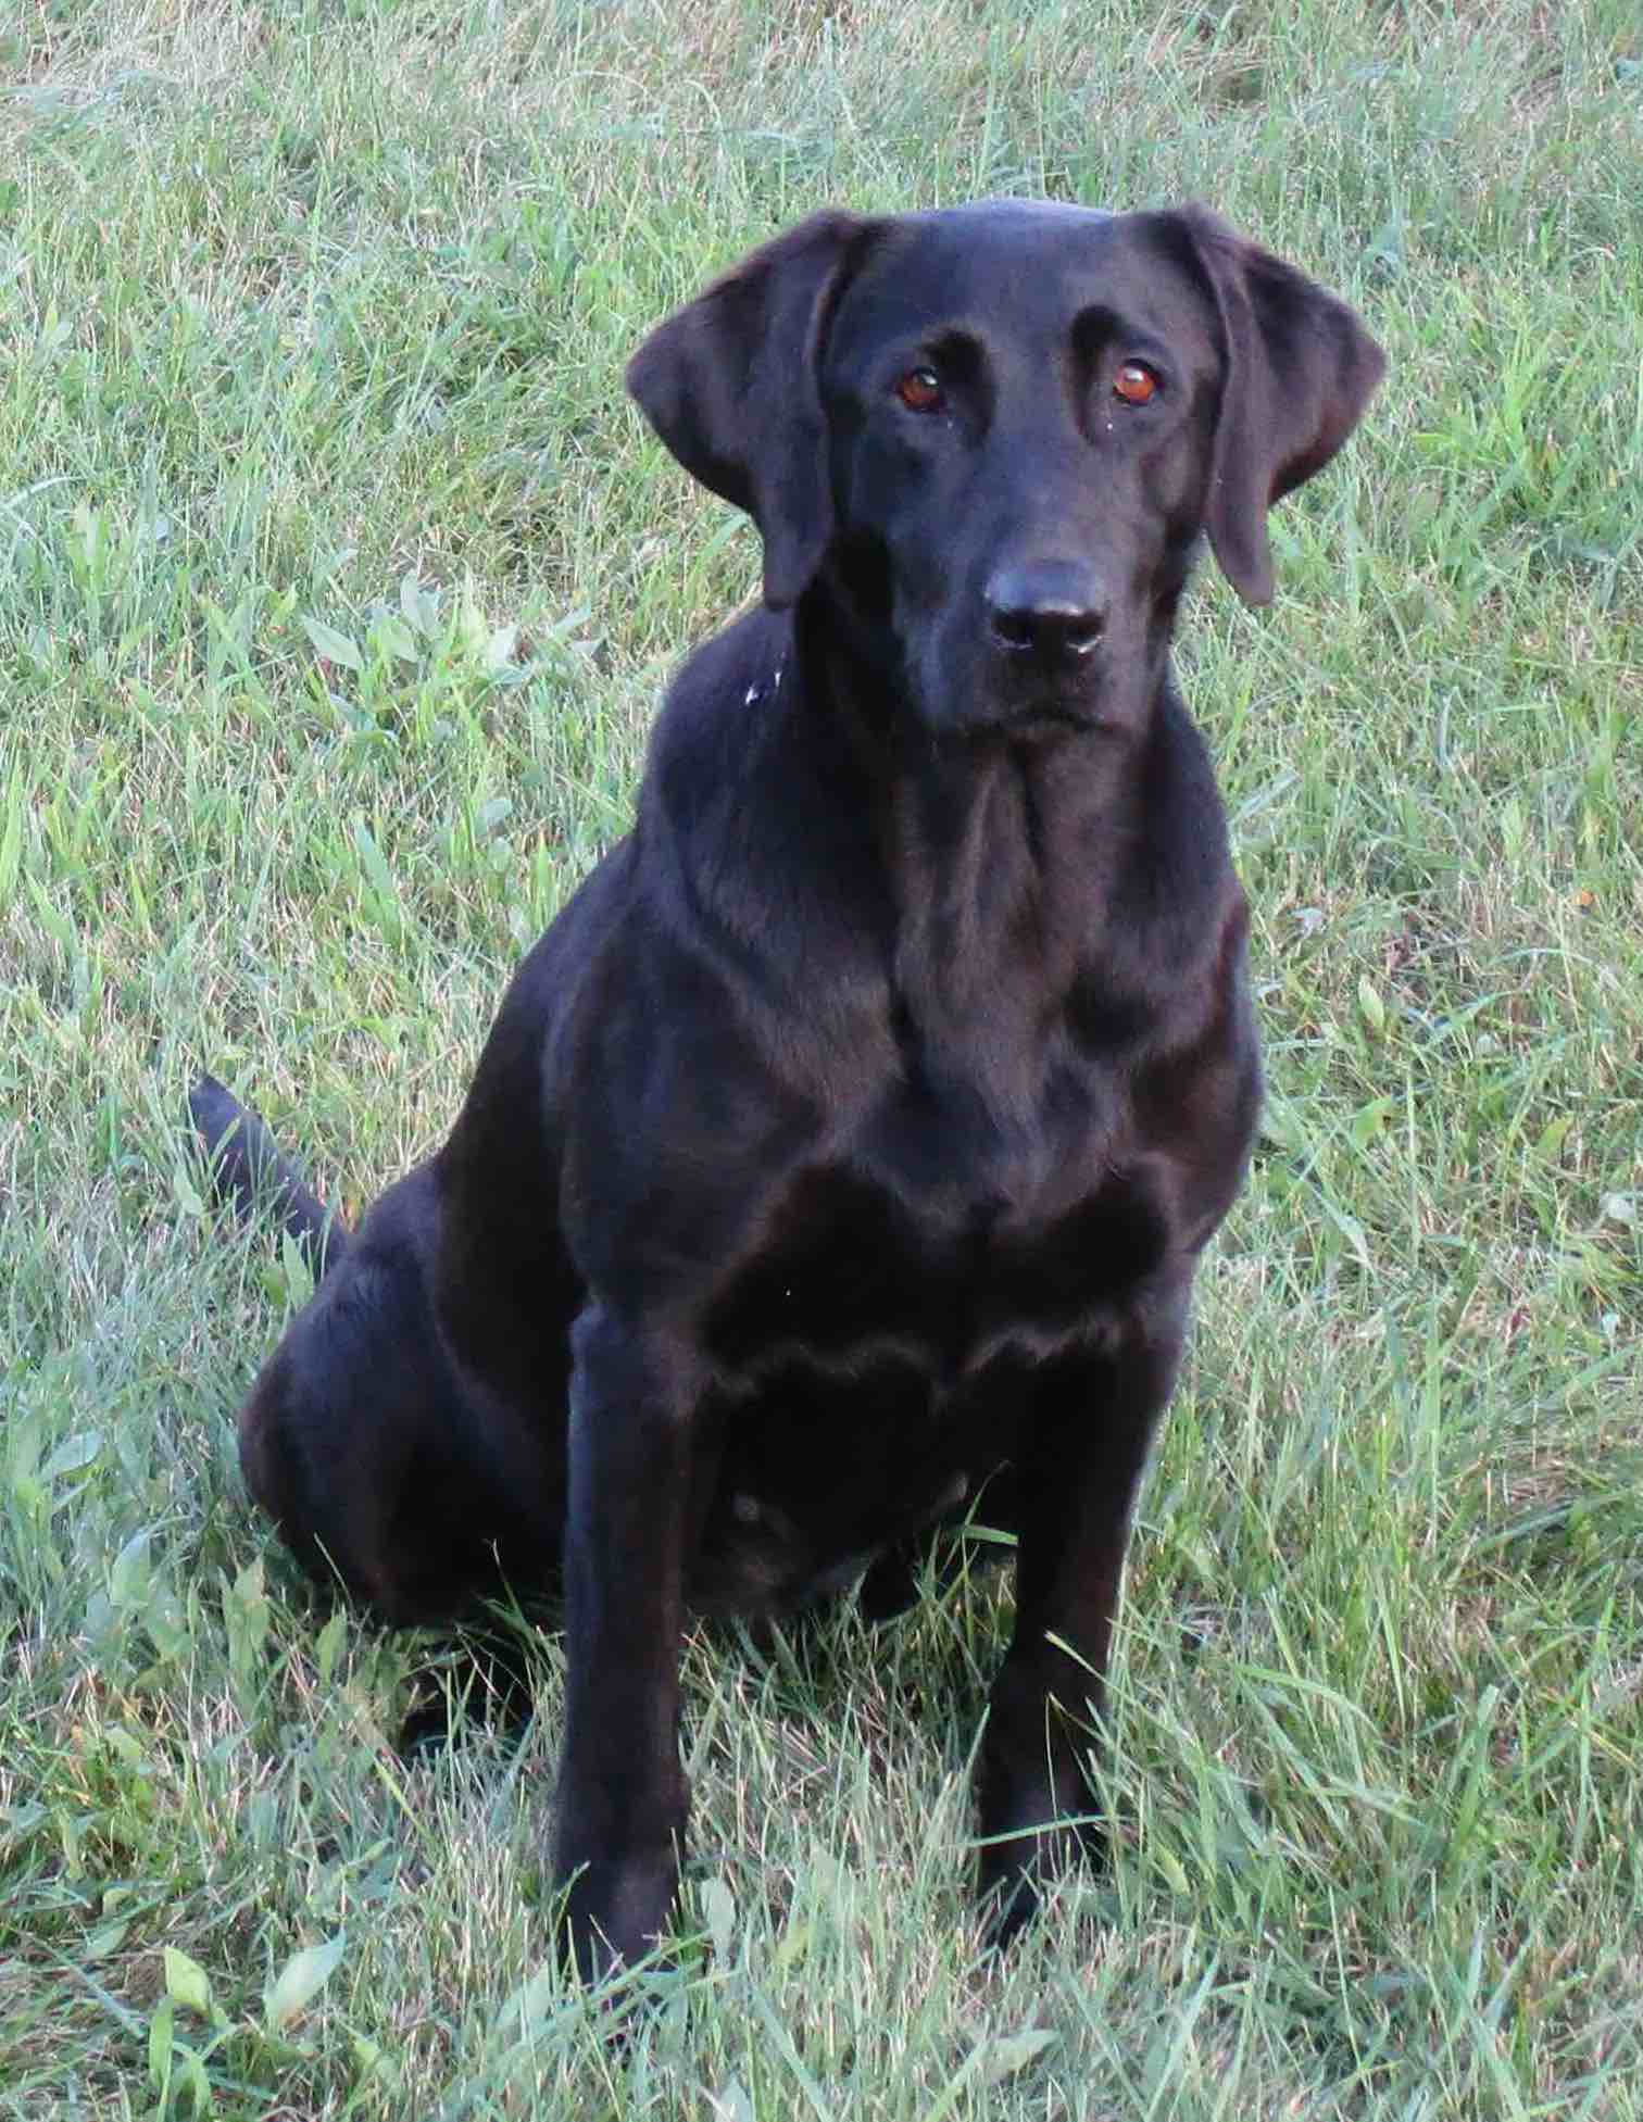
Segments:
[[[724,1430],[692,1598],[779,1611],[962,1507],[1015,1456],[1040,1364],[1106,1343],[1161,1265],[1157,1163],[1025,1207],[794,1178],[705,1320]]]

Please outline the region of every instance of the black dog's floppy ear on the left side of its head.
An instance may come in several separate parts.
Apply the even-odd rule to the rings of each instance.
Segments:
[[[658,325],[628,363],[628,390],[686,471],[758,524],[775,611],[832,539],[817,363],[832,301],[877,227],[811,214]]]

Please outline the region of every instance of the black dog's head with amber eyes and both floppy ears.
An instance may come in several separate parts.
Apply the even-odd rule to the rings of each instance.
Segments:
[[[824,581],[936,730],[1123,726],[1208,535],[1272,596],[1265,511],[1359,420],[1346,303],[1201,208],[815,214],[660,325],[628,386]]]

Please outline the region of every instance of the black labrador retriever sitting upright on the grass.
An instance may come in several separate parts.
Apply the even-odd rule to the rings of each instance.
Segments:
[[[393,1621],[563,1585],[577,1963],[664,1929],[688,1608],[911,1596],[1017,1538],[981,1744],[1008,1937],[1089,1814],[1136,1481],[1259,1101],[1244,895],[1170,637],[1382,356],[1199,208],[822,212],[628,386],[764,539],[639,817],[520,968],[446,1146],[263,1369],[240,1445]],[[202,1084],[219,1180],[272,1150]],[[291,1229],[318,1205],[274,1173]]]

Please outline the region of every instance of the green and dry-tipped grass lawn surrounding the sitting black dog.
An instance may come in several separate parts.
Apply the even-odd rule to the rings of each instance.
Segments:
[[[558,1645],[401,1763],[231,1424],[448,1125],[756,550],[620,388],[824,202],[1184,195],[1390,350],[1208,573],[1267,1133],[1117,1649],[1114,1861],[968,1906],[1002,1592],[688,1653],[681,1944],[554,1965]],[[0,28],[0,2116],[1643,2116],[1637,0],[23,0]]]

